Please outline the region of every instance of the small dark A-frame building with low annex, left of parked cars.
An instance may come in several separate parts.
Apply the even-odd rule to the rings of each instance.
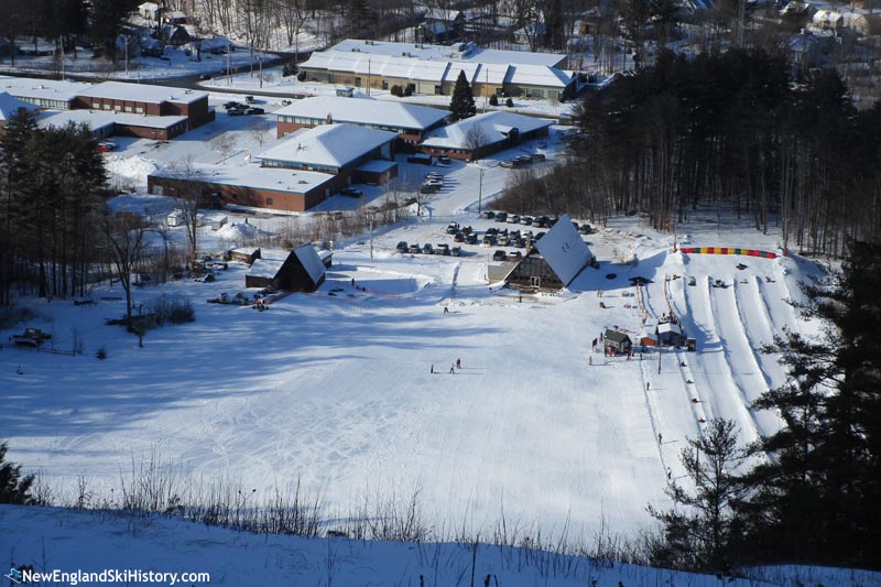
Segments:
[[[290,253],[268,250],[244,275],[246,287],[274,287],[286,292],[314,292],[324,283],[325,265],[309,243]]]

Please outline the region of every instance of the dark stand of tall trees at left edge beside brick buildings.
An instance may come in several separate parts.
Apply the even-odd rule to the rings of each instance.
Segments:
[[[20,110],[0,139],[0,306],[84,295],[100,249],[106,182],[85,126],[40,129]]]

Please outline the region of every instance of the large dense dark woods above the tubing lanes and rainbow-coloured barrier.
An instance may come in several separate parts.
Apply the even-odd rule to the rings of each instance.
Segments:
[[[568,161],[508,202],[602,221],[640,211],[673,231],[698,206],[840,257],[881,229],[881,106],[857,110],[835,70],[790,79],[761,50],[656,64],[587,94]]]

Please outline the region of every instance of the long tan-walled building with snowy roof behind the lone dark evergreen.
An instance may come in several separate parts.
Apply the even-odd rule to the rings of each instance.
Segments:
[[[563,54],[478,48],[471,43],[429,45],[346,40],[313,53],[301,69],[308,79],[355,87],[409,87],[415,94],[448,96],[460,70],[476,97],[563,98],[574,88]]]

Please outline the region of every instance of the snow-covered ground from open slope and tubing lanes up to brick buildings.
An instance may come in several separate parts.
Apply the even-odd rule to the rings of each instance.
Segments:
[[[227,99],[213,94],[211,104]],[[279,100],[258,97],[267,118]],[[218,111],[215,123],[174,141],[119,139],[108,169],[119,185],[142,192],[157,166],[186,157],[219,163],[208,141],[220,133],[236,141],[227,165],[252,164],[274,129],[260,138],[248,119]],[[561,156],[561,132],[552,131],[541,165]],[[585,237],[599,270],[585,270],[558,295],[522,301],[488,286],[496,248],[464,246],[460,258],[394,252],[400,240],[453,244],[444,231],[450,220],[480,232],[498,226],[477,210],[513,174],[499,161],[537,149],[526,143],[479,164],[434,167],[446,181],[422,202],[422,216],[378,231],[372,259],[367,235],[337,242],[319,291],[285,297],[269,312],[206,303],[244,290],[247,268],[238,264],[215,283],[139,289],[137,304],[180,293],[197,313],[195,324],[151,330],[144,348],[104,324],[123,313],[122,302],[104,300],[121,296],[119,285],[96,286],[96,305],[29,301],[35,317],[0,340],[34,326],[53,334],[55,348],[72,349],[76,339],[86,352],[0,352],[0,434],[10,458],[40,470],[58,497],[70,498],[84,477],[106,498],[132,461],[159,453],[182,487],[224,480],[255,489],[260,499],[300,478],[344,513],[366,496],[406,500],[418,491],[437,529],[477,533],[504,514],[545,535],[565,526],[589,537],[605,522],[633,536],[650,524],[646,504],[670,506],[668,478],[687,483],[678,454],[701,421],[736,420],[743,443],[779,425],[774,414],[749,409],[784,380],[776,357],[758,349],[784,327],[816,328],[786,300],[818,268],[798,258],[685,257],[673,252],[672,236],[638,217],[614,218]],[[404,184],[428,171],[399,162]],[[359,199],[336,196],[322,209],[382,197],[380,187],[365,192]],[[173,207],[144,195],[117,205],[155,216]],[[243,217],[230,214],[236,226],[221,231],[205,228],[202,248],[219,252],[258,229],[275,232],[312,218],[262,214],[246,225]],[[677,228],[677,243],[777,250],[776,235],[748,225],[692,220]],[[183,229],[170,232],[185,240]],[[634,276],[650,283],[638,292]],[[711,287],[717,279],[728,286]],[[671,309],[698,350],[665,351],[660,373],[655,352],[628,361],[591,351],[603,328],[635,336],[643,319],[651,324]],[[106,360],[95,358],[98,348],[107,349]],[[457,359],[461,369],[450,373]]]

